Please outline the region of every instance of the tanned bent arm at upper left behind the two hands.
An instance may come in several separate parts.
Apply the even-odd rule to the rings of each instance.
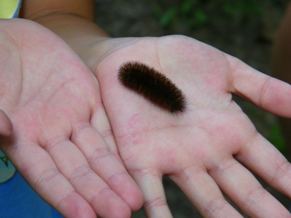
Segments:
[[[20,16],[55,32],[83,60],[87,60],[92,45],[109,37],[94,23],[94,2],[94,0],[24,0]]]

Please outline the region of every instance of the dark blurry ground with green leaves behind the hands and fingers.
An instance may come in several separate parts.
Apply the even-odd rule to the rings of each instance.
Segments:
[[[271,75],[272,42],[287,5],[288,0],[97,0],[96,23],[112,37],[190,36]],[[269,139],[277,118],[235,99]],[[262,184],[290,207],[290,199]],[[174,218],[201,217],[166,177],[164,187]],[[143,210],[132,215],[145,217]]]

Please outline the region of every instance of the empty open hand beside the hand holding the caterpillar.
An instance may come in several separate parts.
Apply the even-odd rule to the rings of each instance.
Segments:
[[[0,106],[14,125],[1,150],[65,217],[129,217],[142,195],[118,156],[94,75],[32,21],[1,20],[0,41]]]

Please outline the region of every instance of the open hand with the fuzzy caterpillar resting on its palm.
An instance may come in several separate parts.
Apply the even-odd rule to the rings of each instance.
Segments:
[[[289,85],[184,36],[108,39],[90,52],[83,59],[97,76],[120,156],[144,193],[148,217],[171,217],[162,175],[204,217],[241,217],[222,192],[250,217],[291,217],[251,173],[291,197],[291,165],[231,94],[291,117]],[[171,114],[119,84],[117,70],[128,61],[171,78],[187,96],[188,109]]]

